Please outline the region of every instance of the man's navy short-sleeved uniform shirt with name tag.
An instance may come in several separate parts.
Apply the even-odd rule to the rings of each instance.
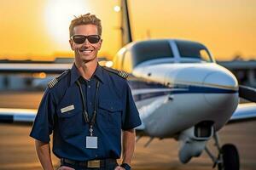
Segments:
[[[87,112],[94,111],[96,82],[99,86],[94,136],[98,137],[97,149],[86,149],[89,125],[84,121],[83,105],[76,81],[80,80]],[[59,158],[75,161],[119,158],[121,131],[141,124],[131,88],[126,80],[98,65],[90,81],[84,80],[73,65],[54,87],[47,88],[30,135],[42,142],[49,142],[53,132],[53,152]]]

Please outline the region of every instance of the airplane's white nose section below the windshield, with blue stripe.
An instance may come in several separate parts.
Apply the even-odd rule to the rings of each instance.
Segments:
[[[132,75],[132,94],[149,136],[172,137],[203,121],[218,131],[239,103],[236,77],[215,63],[138,65]]]

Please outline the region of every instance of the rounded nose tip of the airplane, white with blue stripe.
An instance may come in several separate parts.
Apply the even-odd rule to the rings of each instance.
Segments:
[[[207,103],[216,109],[234,105],[238,100],[238,83],[230,72],[212,72],[207,74],[203,86]]]

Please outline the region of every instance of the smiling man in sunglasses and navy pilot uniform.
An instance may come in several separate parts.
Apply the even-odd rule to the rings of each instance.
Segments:
[[[60,170],[131,169],[134,128],[141,120],[125,80],[128,75],[98,64],[102,25],[96,15],[75,18],[69,31],[74,64],[48,83],[30,133],[38,159],[44,169],[54,169],[49,151],[53,133]]]

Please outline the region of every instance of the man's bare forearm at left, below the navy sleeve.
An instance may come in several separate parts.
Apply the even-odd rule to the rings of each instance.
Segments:
[[[43,169],[54,170],[52,161],[50,158],[49,143],[41,142],[40,140],[35,140],[36,150],[38,159],[41,162]]]

